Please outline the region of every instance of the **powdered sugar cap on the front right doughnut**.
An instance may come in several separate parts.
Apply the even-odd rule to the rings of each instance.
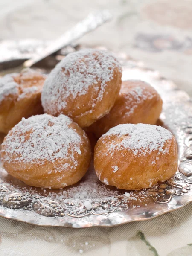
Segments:
[[[167,140],[172,139],[172,133],[161,126],[146,125],[146,124],[123,124],[111,128],[106,134],[101,137],[101,140],[106,136],[116,135],[122,138],[120,143],[111,141],[109,151],[113,154],[114,151],[130,149],[134,155],[145,155],[157,150],[159,153],[166,154],[167,149],[163,146]]]

